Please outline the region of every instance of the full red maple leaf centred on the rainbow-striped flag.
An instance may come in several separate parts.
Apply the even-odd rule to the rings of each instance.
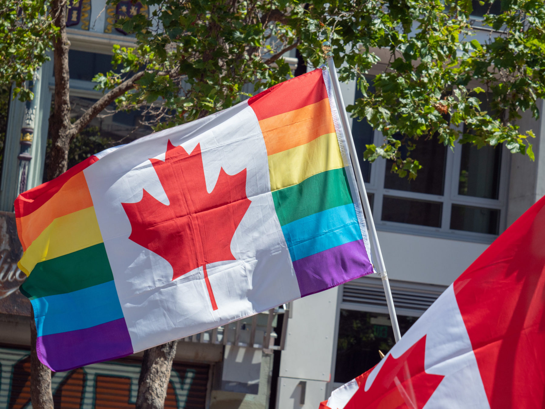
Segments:
[[[202,266],[215,310],[206,264],[236,260],[231,240],[251,203],[246,197],[246,169],[229,176],[221,168],[214,190],[208,193],[200,144],[187,154],[168,141],[165,160],[149,160],[169,204],[145,189],[140,202],[122,203],[132,227],[129,239],[165,258],[173,280]]]

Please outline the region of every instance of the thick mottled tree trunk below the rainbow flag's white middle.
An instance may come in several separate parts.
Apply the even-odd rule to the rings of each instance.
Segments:
[[[136,409],[163,409],[165,406],[177,343],[178,341],[171,341],[144,351]]]

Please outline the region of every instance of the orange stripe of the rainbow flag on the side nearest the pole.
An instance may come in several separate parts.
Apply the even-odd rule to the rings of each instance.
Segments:
[[[329,99],[262,119],[259,127],[263,133],[267,155],[305,145],[319,136],[335,133]]]

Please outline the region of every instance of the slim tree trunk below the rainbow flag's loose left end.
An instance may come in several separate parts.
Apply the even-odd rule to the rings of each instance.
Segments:
[[[31,309],[31,402],[33,409],[53,409],[51,370],[38,359],[36,353],[36,323]]]

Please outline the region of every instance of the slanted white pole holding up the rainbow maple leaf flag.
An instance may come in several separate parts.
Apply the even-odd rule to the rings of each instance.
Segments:
[[[328,62],[329,73],[333,80],[333,93],[335,94],[335,101],[339,115],[341,117],[341,124],[348,140],[348,150],[350,151],[350,158],[352,159],[352,165],[354,166],[356,183],[358,184],[358,190],[360,191],[360,199],[364,206],[364,213],[367,218],[367,227],[373,240],[374,256],[377,262],[376,270],[378,276],[382,279],[382,285],[384,287],[384,294],[386,295],[386,304],[388,305],[388,311],[390,312],[390,321],[392,322],[393,337],[396,342],[401,338],[401,332],[399,332],[399,324],[397,323],[396,309],[393,306],[392,291],[390,290],[390,282],[388,281],[388,275],[386,273],[386,267],[384,266],[384,259],[382,252],[380,251],[380,244],[378,243],[377,229],[374,226],[373,215],[371,214],[371,206],[367,199],[367,192],[365,191],[364,177],[361,175],[360,163],[358,161],[358,155],[356,154],[356,147],[354,145],[354,139],[352,138],[352,130],[348,125],[348,115],[344,107],[342,100],[341,87],[337,77],[337,70],[333,62],[333,53],[331,52],[331,43],[324,41],[322,43],[322,50],[325,52],[325,59]]]

